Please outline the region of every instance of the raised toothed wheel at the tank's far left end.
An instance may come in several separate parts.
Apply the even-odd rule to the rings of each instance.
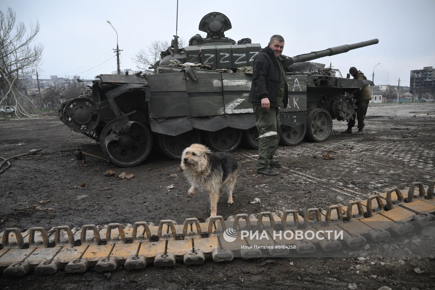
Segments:
[[[58,115],[60,117],[60,113]],[[100,111],[94,101],[88,98],[75,98],[64,105],[61,120],[75,132],[86,133],[97,127]]]

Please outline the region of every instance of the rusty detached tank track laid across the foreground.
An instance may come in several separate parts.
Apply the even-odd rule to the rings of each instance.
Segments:
[[[240,235],[243,228],[240,220],[246,222],[248,229],[268,231],[270,235],[274,229],[291,230],[294,233],[298,229],[320,232],[319,227],[339,229],[344,233],[344,239],[340,241],[327,239],[325,233],[324,239],[296,242],[273,237],[264,244],[271,247],[266,247],[267,250],[241,250],[242,245],[247,245],[244,239],[236,245],[228,243],[223,235],[226,226],[222,216],[212,217],[206,223],[200,223],[196,218],[186,219],[183,225],[172,220],[161,220],[158,226],[137,222],[134,225],[84,225],[73,229],[69,226],[57,226],[49,230],[34,227],[24,232],[8,228],[0,233],[0,268],[4,269],[4,276],[23,276],[30,271],[36,274],[54,274],[60,270],[67,273],[83,273],[86,270],[105,272],[119,267],[133,270],[143,269],[150,264],[174,266],[177,261],[183,261],[186,265],[198,265],[205,260],[231,261],[234,256],[244,259],[262,256],[295,257],[313,253],[316,248],[332,253],[341,249],[347,254],[346,250],[361,248],[368,241],[377,243],[389,239],[391,234],[403,235],[412,231],[413,225],[410,222],[425,226],[428,221],[435,220],[431,214],[435,212],[434,185],[435,181],[428,185],[414,182],[403,190],[393,187],[384,192],[370,192],[367,199],[352,199],[348,206],[337,204],[326,210],[307,209],[305,217],[295,210],[228,217],[227,223],[231,221],[233,228],[228,233],[235,235]],[[418,196],[415,196],[415,188],[418,188]],[[392,199],[391,194],[395,194],[397,199]],[[373,206],[373,201],[377,207]],[[318,223],[310,228],[312,216]],[[371,222],[374,221],[387,222],[388,226],[373,227]],[[295,245],[297,253],[286,249],[289,245]]]

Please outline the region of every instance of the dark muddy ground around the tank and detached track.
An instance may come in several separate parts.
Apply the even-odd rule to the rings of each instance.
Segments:
[[[234,204],[227,206],[222,197],[218,214],[226,218],[283,209],[303,213],[307,208],[346,204],[372,190],[435,179],[433,103],[374,105],[368,110],[366,124],[365,135],[340,135],[346,123],[334,121],[326,142],[280,147],[277,160],[284,167],[278,176],[257,174],[255,160],[250,157],[257,152],[241,146],[234,152],[239,161]],[[402,138],[412,132],[418,132],[417,136]],[[37,157],[12,160],[12,166],[0,175],[0,232],[8,227],[48,229],[58,225],[157,223],[161,219],[182,223],[189,217],[204,220],[209,216],[207,196],[187,196],[187,180],[177,172],[179,162],[157,150],[143,164],[122,169],[91,157],[86,164],[74,164],[76,147],[103,156],[98,143],[70,131],[57,117],[0,121],[0,156],[43,148]],[[322,154],[335,159],[322,159]],[[109,169],[117,174],[104,176]],[[134,178],[116,177],[124,171],[133,173]],[[171,174],[177,176],[171,178]],[[84,182],[86,186],[76,188]],[[174,189],[165,189],[172,184]],[[255,197],[261,203],[250,204]],[[50,202],[40,204],[42,200]],[[358,264],[364,271],[357,273]],[[415,273],[416,267],[423,273]],[[348,283],[355,283],[358,289],[433,289],[434,268],[433,259],[234,259],[195,267],[180,263],[167,269],[117,270],[110,275],[88,271],[50,277],[30,274],[20,279],[0,276],[0,288],[347,289]]]

